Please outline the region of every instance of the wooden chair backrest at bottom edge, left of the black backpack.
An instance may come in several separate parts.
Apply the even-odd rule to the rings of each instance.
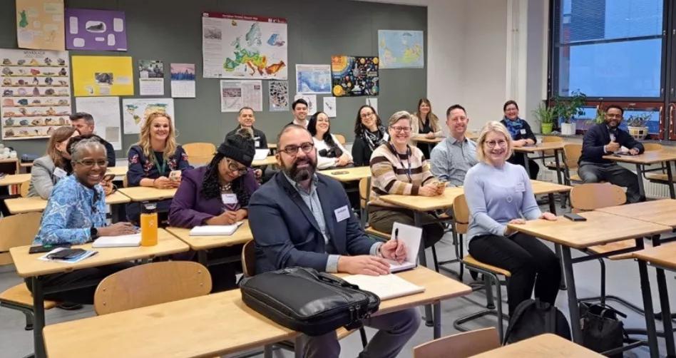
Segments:
[[[413,348],[413,358],[466,358],[500,347],[495,327],[434,339]]]

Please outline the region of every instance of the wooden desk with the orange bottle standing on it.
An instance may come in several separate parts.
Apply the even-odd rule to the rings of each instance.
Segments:
[[[59,272],[71,272],[88,267],[111,265],[131,260],[148,260],[152,259],[153,257],[171,255],[190,250],[190,247],[188,247],[185,242],[178,240],[176,237],[163,229],[158,230],[158,245],[150,247],[140,246],[99,248],[96,249],[98,254],[73,264],[38,260],[38,257],[44,254],[29,255],[29,247],[30,246],[11,247],[9,249],[9,253],[12,260],[14,260],[16,273],[20,277],[30,278],[33,285],[33,312],[35,315],[33,339],[35,345],[35,356],[37,358],[45,357],[42,339],[42,329],[45,325],[43,295],[45,293],[50,293],[44,292],[42,288],[41,276]],[[91,243],[73,246],[73,248],[75,247],[91,250]],[[96,345],[98,342],[94,342],[94,344]],[[78,346],[71,346],[71,352],[81,350],[73,349],[73,347]],[[86,349],[82,351],[84,353],[86,352]],[[63,355],[63,357],[68,357],[68,354]]]

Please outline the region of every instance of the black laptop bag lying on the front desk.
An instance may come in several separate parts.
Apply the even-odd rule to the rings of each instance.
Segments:
[[[277,324],[319,336],[339,327],[357,329],[378,310],[380,299],[317,270],[289,267],[245,277],[242,301]]]

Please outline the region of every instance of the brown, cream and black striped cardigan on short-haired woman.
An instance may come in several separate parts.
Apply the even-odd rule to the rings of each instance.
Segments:
[[[418,195],[421,186],[436,181],[420,149],[408,146],[407,155],[397,154],[389,143],[380,145],[371,155],[371,200],[369,205],[397,208],[380,200],[380,195]],[[399,158],[397,158],[399,157]],[[410,178],[407,173],[409,172]]]

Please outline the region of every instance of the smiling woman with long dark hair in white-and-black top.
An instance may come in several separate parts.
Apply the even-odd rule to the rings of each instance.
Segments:
[[[327,113],[314,113],[307,123],[307,131],[312,134],[314,148],[317,148],[318,169],[344,167],[352,164],[352,155],[347,153],[336,136],[331,134],[331,124]]]

